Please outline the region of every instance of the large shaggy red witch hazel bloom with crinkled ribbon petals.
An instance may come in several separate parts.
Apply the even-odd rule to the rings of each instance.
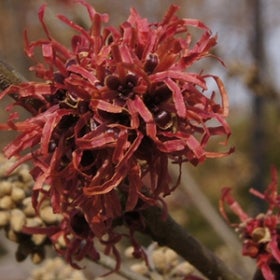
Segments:
[[[186,71],[212,56],[216,37],[208,27],[178,18],[176,6],[159,23],[131,9],[119,28],[103,27],[106,14],[77,2],[86,7],[90,28],[59,15],[76,32],[69,49],[50,34],[42,6],[46,38],[30,42],[26,35],[25,51],[34,57],[41,49],[43,62],[31,70],[43,82],[12,85],[1,94],[16,92],[15,104],[32,114],[19,121],[11,113],[2,125],[20,132],[4,153],[18,156],[18,164],[32,161],[33,205],[38,209],[51,199],[54,212],[64,216],[58,228],[43,230],[52,240],[64,236],[67,248],[61,253],[70,262],[98,259],[94,238],[117,256],[116,225],[135,227],[126,213],[156,205],[174,189],[168,161],[196,165],[223,156],[227,153],[206,146],[211,136],[230,135],[220,78]],[[195,43],[189,27],[202,31]],[[209,79],[217,85],[219,102],[215,92],[209,94]]]

